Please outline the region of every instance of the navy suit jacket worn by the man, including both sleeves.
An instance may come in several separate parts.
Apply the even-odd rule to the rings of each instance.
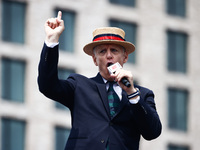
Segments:
[[[98,73],[87,78],[72,74],[66,80],[57,76],[58,46],[45,44],[39,63],[39,90],[48,98],[62,103],[71,111],[72,128],[65,150],[138,150],[140,136],[157,138],[161,122],[151,90],[136,86],[141,95],[131,104],[122,92],[120,109],[110,117],[105,83]]]

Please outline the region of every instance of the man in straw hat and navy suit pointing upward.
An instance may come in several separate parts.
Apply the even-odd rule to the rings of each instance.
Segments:
[[[71,74],[66,80],[57,75],[58,41],[64,30],[62,13],[45,23],[46,39],[39,63],[40,91],[71,111],[72,128],[65,150],[138,150],[140,136],[146,140],[161,134],[161,122],[151,90],[133,84],[130,71],[123,66],[135,46],[125,41],[122,29],[98,28],[93,41],[83,50],[98,66],[96,77]],[[127,87],[121,81],[126,78]]]

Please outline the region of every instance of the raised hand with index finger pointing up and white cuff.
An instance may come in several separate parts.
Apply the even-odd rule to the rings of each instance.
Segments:
[[[56,18],[49,18],[45,22],[46,39],[48,43],[57,43],[59,37],[65,29],[64,21],[62,20],[62,12],[59,11]]]

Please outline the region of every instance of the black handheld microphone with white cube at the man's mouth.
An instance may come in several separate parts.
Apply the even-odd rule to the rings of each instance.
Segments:
[[[115,71],[117,71],[118,69],[121,69],[122,68],[122,66],[117,62],[117,63],[115,63],[115,64],[108,64],[108,71],[109,71],[109,73],[110,74],[112,74],[112,73],[115,73]],[[126,78],[126,77],[123,77],[122,79],[121,79],[121,82],[126,86],[126,87],[130,87],[131,86],[131,84],[130,84],[130,82],[128,81],[128,79]]]

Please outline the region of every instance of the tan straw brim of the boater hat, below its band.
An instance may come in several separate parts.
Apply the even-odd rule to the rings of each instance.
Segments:
[[[114,41],[114,40],[101,40],[101,41],[91,42],[91,43],[84,46],[83,51],[86,54],[92,56],[94,47],[96,47],[97,45],[102,45],[102,44],[120,45],[120,46],[125,48],[125,50],[128,54],[135,51],[135,46],[132,43],[127,42],[127,41]]]

